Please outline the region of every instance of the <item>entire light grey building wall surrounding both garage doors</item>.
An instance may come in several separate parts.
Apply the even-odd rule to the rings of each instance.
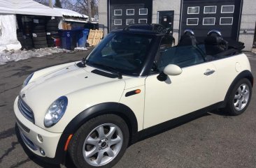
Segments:
[[[122,1],[122,0],[120,0]],[[157,11],[174,10],[173,37],[176,44],[180,29],[180,1],[182,0],[152,0],[152,23],[157,23]],[[104,24],[104,36],[108,33],[108,0],[99,0],[99,24]],[[256,23],[256,1],[243,0],[239,41],[245,43],[244,50],[251,51]]]

